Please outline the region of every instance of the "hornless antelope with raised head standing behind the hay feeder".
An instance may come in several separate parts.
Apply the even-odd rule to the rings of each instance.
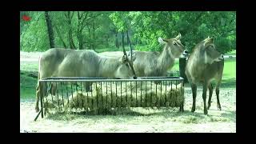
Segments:
[[[180,41],[181,34],[176,38],[158,38],[158,42],[165,44],[162,52],[134,51],[134,70],[139,77],[166,76],[167,70],[174,66],[175,58],[178,58],[185,50]],[[186,52],[186,50],[185,50]],[[130,54],[128,54],[129,56]]]

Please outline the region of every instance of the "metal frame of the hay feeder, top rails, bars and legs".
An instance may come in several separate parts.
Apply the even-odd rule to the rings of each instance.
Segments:
[[[82,85],[82,82],[91,82],[91,83],[96,82],[96,86],[97,86],[97,82],[101,82],[101,84],[102,84],[102,82],[110,82],[110,83],[111,82],[121,82],[121,87],[122,87],[122,83],[127,84],[127,82],[136,82],[136,100],[138,101],[138,99],[137,99],[137,84],[138,84],[138,82],[140,82],[141,84],[142,84],[142,82],[146,82],[146,83],[150,82],[151,83],[151,90],[152,90],[152,82],[154,82],[154,81],[161,82],[161,87],[162,87],[162,81],[171,82],[171,86],[172,86],[173,82],[176,82],[176,90],[177,90],[177,83],[178,82],[182,83],[182,87],[184,86],[184,83],[183,83],[184,78],[182,78],[182,77],[138,77],[137,79],[132,79],[132,78],[130,78],[130,79],[86,78],[86,77],[50,77],[50,78],[42,78],[42,79],[39,80],[39,87],[40,87],[40,98],[39,98],[39,100],[40,100],[40,105],[41,105],[40,108],[41,109],[39,110],[37,116],[34,118],[34,121],[37,120],[39,114],[41,114],[42,118],[44,117],[44,114],[46,114],[46,110],[44,110],[44,108],[43,108],[44,107],[43,106],[43,97],[46,96],[49,93],[49,88],[48,88],[46,93],[43,93],[43,91],[42,91],[42,82],[77,82],[77,83],[81,82],[81,85]],[[112,86],[111,86],[111,89],[112,89]],[[112,92],[112,90],[111,90],[111,92]],[[127,90],[127,87],[126,87],[126,90]],[[107,93],[107,90],[106,90],[106,93]],[[121,88],[121,94],[122,94],[122,88]],[[126,94],[127,94],[127,92],[126,92]],[[140,94],[142,94],[142,92]],[[161,94],[162,94],[162,89],[161,89]],[[58,96],[58,91],[57,91],[57,96]],[[72,92],[72,97],[73,97],[73,92]],[[62,95],[62,98],[63,98],[63,95]],[[126,98],[127,98],[127,96],[126,96]],[[140,98],[142,98],[142,95],[141,95]],[[112,98],[111,98],[111,101],[112,101]],[[97,98],[97,102],[98,102],[98,98]],[[141,102],[142,102],[142,99],[141,99]],[[122,104],[122,98],[121,98],[121,104]],[[152,104],[152,95],[151,95],[150,106],[151,106],[151,104]],[[58,106],[59,106],[59,104],[58,104]],[[64,106],[64,103],[63,103],[63,106]],[[150,106],[142,106],[142,103],[141,103],[141,106],[138,106],[138,102],[136,102],[136,106],[134,106],[134,107],[150,107]],[[124,106],[124,107],[126,107],[126,106]],[[184,102],[182,102],[182,104],[179,106],[179,108],[180,108],[179,109],[180,112],[184,111]]]

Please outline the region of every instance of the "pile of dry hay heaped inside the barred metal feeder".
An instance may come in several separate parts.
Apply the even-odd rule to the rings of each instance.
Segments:
[[[51,108],[56,108],[56,102]],[[92,85],[91,92],[76,91],[70,94],[64,101],[64,107],[67,111],[100,112],[120,107],[178,107],[182,102],[184,102],[182,84],[176,86],[169,83],[165,85],[165,83],[137,82],[136,86],[136,82],[98,82]]]

